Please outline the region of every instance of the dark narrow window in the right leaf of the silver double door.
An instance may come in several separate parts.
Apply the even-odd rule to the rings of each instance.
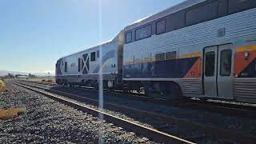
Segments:
[[[232,50],[222,50],[221,52],[221,76],[230,76],[232,62]]]

